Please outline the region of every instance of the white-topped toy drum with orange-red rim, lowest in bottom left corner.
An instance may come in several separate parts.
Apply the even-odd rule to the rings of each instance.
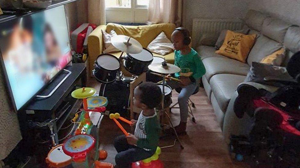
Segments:
[[[72,159],[62,150],[62,145],[53,147],[46,158],[49,167],[65,167],[71,164]]]

